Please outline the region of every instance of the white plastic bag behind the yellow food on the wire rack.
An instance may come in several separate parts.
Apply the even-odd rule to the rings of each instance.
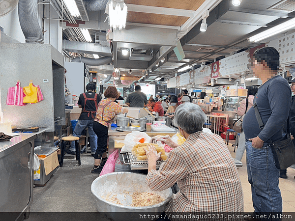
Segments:
[[[151,138],[144,132],[132,131],[130,134],[127,134],[124,139],[124,146],[122,147],[121,153],[132,152],[133,147],[136,144],[139,144],[139,140],[145,138],[144,143],[149,143]]]

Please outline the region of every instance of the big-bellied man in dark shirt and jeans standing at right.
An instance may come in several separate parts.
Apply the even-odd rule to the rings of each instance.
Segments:
[[[269,143],[282,138],[287,122],[291,89],[286,79],[277,75],[280,55],[273,47],[258,49],[251,63],[253,75],[263,84],[253,104],[257,105],[265,127],[261,130],[252,107],[244,116],[243,131],[246,138],[247,173],[251,184],[255,214],[282,212],[279,189],[280,170],[276,168]]]

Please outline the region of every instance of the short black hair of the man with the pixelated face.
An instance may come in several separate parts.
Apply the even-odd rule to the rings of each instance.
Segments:
[[[258,62],[262,62],[264,60],[271,70],[279,70],[280,54],[274,47],[263,47],[257,49],[253,56]]]

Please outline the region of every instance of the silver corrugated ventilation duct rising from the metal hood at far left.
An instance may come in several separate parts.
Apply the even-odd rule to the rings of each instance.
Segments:
[[[44,44],[44,35],[38,23],[38,0],[19,0],[18,15],[26,43]]]

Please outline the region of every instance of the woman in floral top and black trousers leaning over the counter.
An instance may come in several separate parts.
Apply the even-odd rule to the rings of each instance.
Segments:
[[[97,149],[94,154],[94,166],[91,173],[100,173],[107,161],[108,127],[116,114],[127,113],[127,108],[122,108],[114,101],[118,97],[117,88],[109,86],[105,98],[98,103],[96,116],[93,122],[93,130],[97,135]],[[102,159],[101,159],[102,158]]]

